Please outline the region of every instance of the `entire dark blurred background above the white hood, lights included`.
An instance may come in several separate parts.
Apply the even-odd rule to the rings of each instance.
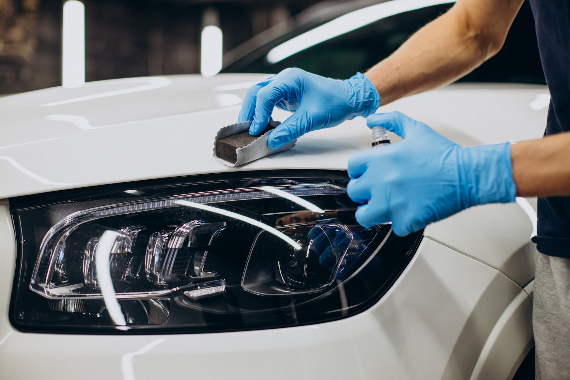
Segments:
[[[345,78],[453,5],[434,0],[0,0],[0,94],[122,77]],[[463,81],[544,84],[528,2],[503,50]]]

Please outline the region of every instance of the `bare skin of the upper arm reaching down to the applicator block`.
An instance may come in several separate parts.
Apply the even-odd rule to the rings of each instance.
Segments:
[[[523,0],[458,0],[366,76],[382,105],[408,95],[449,84],[503,46]]]

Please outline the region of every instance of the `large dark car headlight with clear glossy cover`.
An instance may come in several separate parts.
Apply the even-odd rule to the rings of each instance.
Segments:
[[[10,320],[28,331],[182,333],[359,313],[422,235],[359,226],[347,182],[341,171],[242,172],[11,199]]]

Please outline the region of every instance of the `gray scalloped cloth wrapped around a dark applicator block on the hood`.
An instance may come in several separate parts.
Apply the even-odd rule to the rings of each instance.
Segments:
[[[297,140],[275,150],[267,146],[269,132],[279,124],[279,121],[271,120],[260,136],[250,136],[251,121],[241,121],[223,127],[218,130],[214,139],[214,158],[224,165],[238,166],[293,148]]]

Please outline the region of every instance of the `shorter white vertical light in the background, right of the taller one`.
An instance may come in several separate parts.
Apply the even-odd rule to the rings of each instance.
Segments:
[[[218,14],[208,9],[203,15],[202,36],[200,40],[200,72],[203,76],[214,76],[222,70],[222,29],[219,27]]]

